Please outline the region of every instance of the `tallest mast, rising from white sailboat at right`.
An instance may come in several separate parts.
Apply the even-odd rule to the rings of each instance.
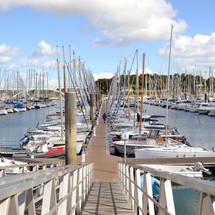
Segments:
[[[169,76],[170,76],[170,63],[171,63],[171,50],[172,50],[172,32],[173,32],[173,25],[171,25],[171,35],[170,35],[170,42],[169,42],[169,62],[168,62],[168,76],[167,76],[167,95],[166,95],[166,128],[165,128],[165,136],[166,136],[166,144],[167,144],[167,125],[168,125],[168,99],[169,99]]]

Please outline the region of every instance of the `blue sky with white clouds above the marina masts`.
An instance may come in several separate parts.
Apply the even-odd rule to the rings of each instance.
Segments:
[[[74,52],[95,80],[125,62],[141,73],[143,53],[146,72],[168,74],[172,25],[169,72],[207,77],[215,67],[214,8],[214,0],[1,1],[0,85],[4,71],[34,69],[47,71],[55,87],[63,47],[66,61]]]

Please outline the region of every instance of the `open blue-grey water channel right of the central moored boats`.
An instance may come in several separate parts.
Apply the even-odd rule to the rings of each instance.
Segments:
[[[149,115],[166,115],[166,108],[152,105],[145,105],[144,108]],[[176,127],[182,132],[193,147],[200,146],[209,149],[215,147],[215,117],[174,109],[168,110],[168,116],[169,126]]]

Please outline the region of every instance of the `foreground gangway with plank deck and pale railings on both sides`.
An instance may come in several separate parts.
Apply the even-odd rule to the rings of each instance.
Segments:
[[[197,190],[198,214],[215,214],[215,184],[118,162],[119,178],[94,179],[94,165],[66,165],[0,178],[0,214],[176,214],[173,184]],[[151,177],[160,180],[154,198]],[[141,183],[141,177],[144,182]]]

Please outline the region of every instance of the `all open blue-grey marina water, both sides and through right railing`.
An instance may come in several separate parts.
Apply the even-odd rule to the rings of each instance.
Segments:
[[[166,109],[144,105],[147,114],[166,115]],[[19,146],[19,141],[29,129],[34,129],[38,123],[43,123],[46,115],[59,111],[59,108],[47,107],[27,112],[13,113],[0,116],[0,144]],[[176,127],[187,138],[192,146],[212,148],[215,146],[215,118],[197,113],[178,110],[168,110],[170,127]],[[162,119],[165,122],[165,119]],[[180,202],[176,208],[177,215],[198,214],[196,206],[199,193],[189,188],[174,189],[174,198]]]

